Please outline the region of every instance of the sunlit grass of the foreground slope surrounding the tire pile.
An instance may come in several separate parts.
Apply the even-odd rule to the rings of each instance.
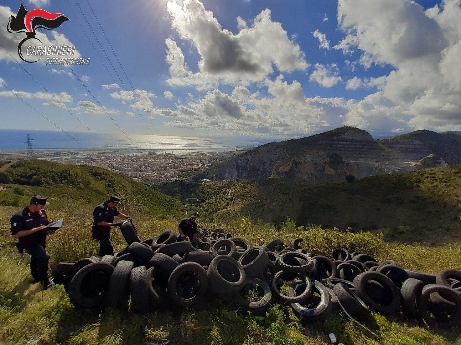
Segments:
[[[8,234],[8,219],[16,209],[0,207],[0,233]],[[145,213],[133,213],[143,239],[173,228],[171,220],[156,220]],[[51,210],[50,217],[64,216],[65,227],[49,238],[49,252],[54,266],[59,260],[75,260],[96,253],[85,214],[66,215]],[[223,227],[226,231],[247,238],[256,244],[260,238],[269,242],[281,237],[289,242],[302,237],[302,246],[314,253],[331,253],[343,246],[370,253],[382,261],[395,259],[404,268],[437,272],[443,268],[461,266],[461,249],[439,249],[388,244],[370,233],[344,233],[318,227],[308,231],[294,229],[281,232],[271,225],[254,225],[244,220],[235,224],[200,224],[203,228]],[[114,233],[115,247],[124,246],[121,236]],[[197,310],[157,311],[136,316],[114,310],[82,311],[75,309],[61,286],[42,292],[31,284],[29,256],[19,255],[11,238],[0,237],[0,344],[69,344],[115,345],[157,344],[169,339],[171,344],[330,344],[328,334],[334,333],[346,345],[461,345],[458,332],[441,332],[403,316],[384,318],[377,314],[372,322],[378,338],[374,339],[359,326],[341,315],[326,322],[302,325],[290,308],[271,307],[264,317],[242,316],[226,304],[213,299]],[[73,251],[62,248],[73,248]],[[57,260],[58,259],[58,260]],[[370,327],[372,327],[370,325]],[[161,342],[160,342],[161,343]]]

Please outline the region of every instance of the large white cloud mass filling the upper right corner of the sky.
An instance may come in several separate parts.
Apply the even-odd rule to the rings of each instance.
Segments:
[[[461,130],[460,17],[460,0],[426,11],[407,0],[339,0],[340,29],[356,37],[361,65],[394,68],[370,79],[380,91],[355,104],[346,122],[370,130]]]

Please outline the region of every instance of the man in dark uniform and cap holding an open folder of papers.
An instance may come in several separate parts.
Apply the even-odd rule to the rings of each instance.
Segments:
[[[19,239],[16,247],[20,253],[24,253],[25,250],[32,255],[30,273],[34,282],[41,282],[43,290],[54,285],[53,279],[48,278],[50,254],[46,251],[47,235],[53,235],[54,231],[44,230],[50,224],[44,210],[50,204],[47,199],[43,196],[32,196],[30,205],[10,219],[11,234]]]

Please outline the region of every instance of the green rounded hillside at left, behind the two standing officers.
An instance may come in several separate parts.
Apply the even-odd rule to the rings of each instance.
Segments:
[[[2,165],[0,165],[0,169]],[[137,207],[151,216],[179,216],[183,205],[148,186],[105,169],[21,160],[0,173],[0,204],[23,206],[30,196],[48,196],[50,209],[91,208],[110,195],[118,195],[121,207]]]

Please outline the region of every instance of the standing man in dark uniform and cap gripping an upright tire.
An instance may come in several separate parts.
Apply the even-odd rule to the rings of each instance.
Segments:
[[[93,238],[99,241],[99,255],[113,255],[114,247],[111,242],[111,227],[121,226],[122,223],[113,223],[114,217],[118,216],[123,219],[133,220],[117,209],[121,199],[118,196],[111,196],[103,204],[96,206],[93,211]]]

